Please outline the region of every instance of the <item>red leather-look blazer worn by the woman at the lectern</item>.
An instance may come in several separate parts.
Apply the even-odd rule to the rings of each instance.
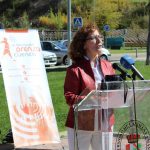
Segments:
[[[115,74],[114,69],[110,62],[106,60],[99,60],[100,68],[105,75]],[[66,102],[69,105],[69,113],[66,121],[66,126],[74,128],[74,110],[73,105],[81,100],[79,96],[86,88],[88,87],[89,92],[95,89],[95,78],[94,73],[91,68],[89,60],[83,59],[78,61],[78,63],[73,64],[67,68],[65,83],[64,83],[64,95]],[[88,115],[85,112],[82,112],[78,122],[82,122],[80,129],[82,130],[94,130],[94,111],[88,111]],[[84,117],[83,117],[84,116]],[[88,118],[88,119],[87,119]],[[110,126],[114,124],[114,115],[113,113],[109,117]]]

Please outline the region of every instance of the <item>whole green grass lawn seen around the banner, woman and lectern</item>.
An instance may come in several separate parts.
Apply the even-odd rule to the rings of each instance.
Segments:
[[[140,70],[140,72],[142,73],[145,79],[150,79],[150,66],[145,66],[144,62],[136,62],[136,68]],[[66,74],[65,71],[52,71],[47,73],[59,131],[65,130],[64,124],[68,112],[68,106],[66,105],[65,98],[63,95],[63,84],[64,84],[65,74]],[[0,89],[1,89],[0,92],[0,131],[1,131],[0,140],[1,140],[4,137],[4,135],[7,133],[8,129],[10,128],[9,113],[8,113],[8,107],[6,102],[2,74],[0,74]],[[150,118],[149,102],[146,101],[143,106],[141,105],[141,107],[142,107],[140,109],[141,111],[146,110],[145,118],[143,118],[144,123],[148,121],[148,123],[150,124],[150,120],[148,119]],[[126,121],[125,118],[127,118],[128,113],[129,112],[126,109],[124,110],[118,109],[115,111],[117,120],[119,120],[117,121],[115,130],[117,130],[124,124],[124,122]]]

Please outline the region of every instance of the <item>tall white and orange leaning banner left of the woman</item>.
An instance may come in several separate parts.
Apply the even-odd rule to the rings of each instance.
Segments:
[[[0,30],[0,60],[15,147],[59,143],[37,30]]]

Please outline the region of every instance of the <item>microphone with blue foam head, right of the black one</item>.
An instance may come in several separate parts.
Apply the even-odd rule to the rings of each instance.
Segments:
[[[144,77],[142,76],[142,74],[134,66],[134,63],[135,63],[134,59],[131,58],[129,55],[122,56],[120,59],[120,63],[124,68],[131,69],[132,72],[135,75],[137,75],[137,77],[139,77],[141,80],[144,80]]]

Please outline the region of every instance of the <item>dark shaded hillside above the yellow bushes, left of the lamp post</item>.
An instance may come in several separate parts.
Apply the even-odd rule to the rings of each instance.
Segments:
[[[29,19],[33,19],[46,13],[50,8],[52,8],[54,12],[57,12],[60,1],[61,0],[1,0],[0,14],[18,18],[26,11]]]

